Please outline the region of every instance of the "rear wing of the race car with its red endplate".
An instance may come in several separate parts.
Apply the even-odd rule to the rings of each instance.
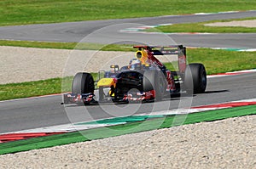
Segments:
[[[187,66],[186,61],[186,47],[183,45],[171,45],[171,46],[134,46],[138,50],[147,49],[154,55],[177,55],[178,69],[180,73],[184,73]]]

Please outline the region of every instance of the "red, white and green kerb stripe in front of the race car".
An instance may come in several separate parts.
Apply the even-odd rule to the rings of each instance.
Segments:
[[[222,103],[222,104],[209,104],[209,105],[195,106],[190,109],[158,111],[158,112],[152,112],[149,115],[144,113],[139,115],[115,117],[115,118],[108,118],[108,119],[102,119],[97,121],[85,121],[85,122],[78,122],[74,124],[59,125],[59,126],[53,126],[53,127],[42,127],[42,128],[35,128],[31,130],[23,130],[18,132],[9,132],[9,133],[4,133],[2,135],[0,134],[0,144],[6,143],[9,141],[20,140],[20,139],[43,137],[43,136],[61,134],[65,132],[81,131],[81,130],[86,130],[90,128],[109,127],[109,126],[129,123],[133,121],[145,121],[148,118],[157,118],[160,116],[162,117],[164,115],[185,115],[189,113],[195,113],[195,112],[201,112],[201,111],[207,111],[207,110],[218,110],[218,109],[240,107],[240,106],[253,105],[253,104],[256,104],[256,99],[245,99],[245,100],[238,100],[238,101]]]

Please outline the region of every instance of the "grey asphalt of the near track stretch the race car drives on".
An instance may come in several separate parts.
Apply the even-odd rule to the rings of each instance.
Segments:
[[[208,79],[207,92],[166,99],[145,104],[101,104],[77,106],[61,105],[61,95],[0,102],[0,133],[15,132],[36,127],[49,127],[70,122],[91,121],[113,116],[124,116],[151,111],[173,110],[189,105],[218,104],[241,99],[253,99],[256,95],[256,73],[221,76]],[[126,106],[126,107],[125,107]],[[130,106],[130,107],[127,107]]]

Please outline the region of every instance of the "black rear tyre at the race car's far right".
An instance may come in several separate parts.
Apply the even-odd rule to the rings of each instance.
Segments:
[[[185,71],[187,93],[204,93],[207,88],[207,71],[202,64],[189,64]]]

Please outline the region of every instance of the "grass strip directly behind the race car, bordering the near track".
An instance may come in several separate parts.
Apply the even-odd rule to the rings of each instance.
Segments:
[[[256,68],[256,52],[234,52],[209,48],[188,48],[189,63],[202,63],[207,74]],[[166,64],[172,68],[172,64]],[[96,73],[93,73],[96,80]],[[55,78],[38,82],[22,82],[0,85],[0,100],[19,99],[71,90],[73,77]],[[63,84],[63,85],[62,85]]]

